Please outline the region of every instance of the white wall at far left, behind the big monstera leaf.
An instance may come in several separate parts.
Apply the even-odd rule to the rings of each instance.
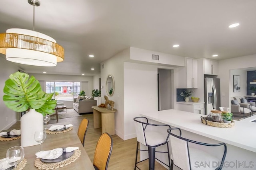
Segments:
[[[4,85],[5,81],[9,78],[10,74],[17,72],[20,68],[14,65],[12,62],[6,61],[5,57],[0,55],[0,131],[9,129],[14,123],[16,123],[16,112],[12,111],[3,101]]]

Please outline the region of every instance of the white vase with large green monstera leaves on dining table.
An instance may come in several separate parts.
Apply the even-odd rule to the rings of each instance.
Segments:
[[[9,76],[4,86],[4,104],[13,111],[29,110],[20,120],[21,145],[28,147],[38,145],[34,141],[34,132],[44,129],[43,115],[54,113],[56,100],[52,94],[42,91],[40,83],[34,76],[15,72]]]

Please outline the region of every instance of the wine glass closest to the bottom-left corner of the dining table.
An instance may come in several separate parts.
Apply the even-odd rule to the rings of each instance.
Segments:
[[[22,146],[16,146],[9,148],[6,152],[6,161],[9,165],[16,168],[17,164],[20,163],[24,158],[25,152]]]

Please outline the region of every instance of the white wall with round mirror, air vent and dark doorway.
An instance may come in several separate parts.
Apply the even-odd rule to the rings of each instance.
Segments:
[[[101,84],[102,84],[102,102],[106,95],[106,78],[112,74],[115,80],[115,91],[109,100],[115,102],[115,130],[116,135],[122,139],[131,139],[136,137],[133,118],[145,111],[157,111],[157,73],[158,68],[173,70],[172,76],[172,106],[175,106],[176,99],[176,80],[177,69],[170,65],[183,65],[184,57],[176,60],[176,56],[163,55],[168,58],[168,63],[135,63],[132,57],[138,61],[143,61],[145,56],[151,59],[152,51],[128,48],[118,53],[114,57],[101,63]],[[158,54],[158,52],[154,53]],[[102,68],[104,64],[104,68]],[[166,66],[169,65],[169,66]]]

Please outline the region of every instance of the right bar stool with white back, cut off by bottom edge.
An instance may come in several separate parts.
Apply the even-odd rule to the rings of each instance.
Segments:
[[[180,135],[175,135],[171,131],[178,130]],[[171,170],[173,166],[177,166],[182,170],[221,170],[226,158],[227,146],[225,143],[209,144],[192,141],[181,137],[181,130],[177,127],[167,130],[170,134],[170,142],[172,147],[171,154]],[[196,144],[196,147],[191,147],[190,144]],[[222,158],[217,158],[208,152],[200,149],[202,145],[207,147],[223,147]],[[214,152],[218,152],[216,149]],[[222,152],[221,152],[222,153]],[[207,164],[206,164],[206,163]],[[204,165],[202,165],[204,164]],[[201,166],[202,165],[202,166]]]

